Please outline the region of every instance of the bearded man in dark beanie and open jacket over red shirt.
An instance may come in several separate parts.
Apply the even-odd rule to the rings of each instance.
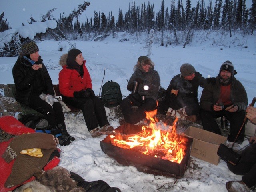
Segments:
[[[247,93],[244,86],[234,75],[234,65],[225,61],[220,66],[216,84],[206,84],[200,98],[200,117],[204,130],[221,135],[216,118],[225,116],[230,121],[228,142],[234,142],[244,122],[247,107]],[[236,140],[238,144],[244,141],[244,126]]]

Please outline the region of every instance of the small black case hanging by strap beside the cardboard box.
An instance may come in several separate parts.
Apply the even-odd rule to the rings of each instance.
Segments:
[[[222,158],[224,161],[226,161],[227,163],[230,163],[233,166],[236,166],[241,159],[240,154],[234,152],[231,148],[229,148],[228,146],[222,143],[218,148],[217,155],[220,156],[220,158]]]

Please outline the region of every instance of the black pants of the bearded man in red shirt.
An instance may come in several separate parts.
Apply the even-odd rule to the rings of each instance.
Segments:
[[[202,125],[204,130],[221,135],[220,128],[216,122],[216,118],[226,116],[227,120],[230,121],[230,135],[228,135],[228,141],[234,142],[236,136],[243,124],[245,112],[228,112],[226,110],[222,111],[205,111],[201,110],[200,117],[202,120]],[[238,141],[244,140],[244,127],[242,128]]]

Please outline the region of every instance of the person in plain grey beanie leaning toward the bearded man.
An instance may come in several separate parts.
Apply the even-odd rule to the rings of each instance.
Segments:
[[[180,66],[180,74],[172,78],[163,101],[159,101],[158,112],[184,120],[196,122],[199,116],[198,87],[216,83],[216,78],[204,78],[189,63]]]

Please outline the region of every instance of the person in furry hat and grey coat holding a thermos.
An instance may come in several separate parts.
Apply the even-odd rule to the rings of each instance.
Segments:
[[[134,73],[130,77],[127,90],[132,91],[121,102],[124,120],[136,124],[146,117],[145,111],[156,109],[156,98],[160,88],[160,76],[154,70],[154,63],[147,56],[140,56],[134,66]],[[138,109],[133,110],[136,106]]]

